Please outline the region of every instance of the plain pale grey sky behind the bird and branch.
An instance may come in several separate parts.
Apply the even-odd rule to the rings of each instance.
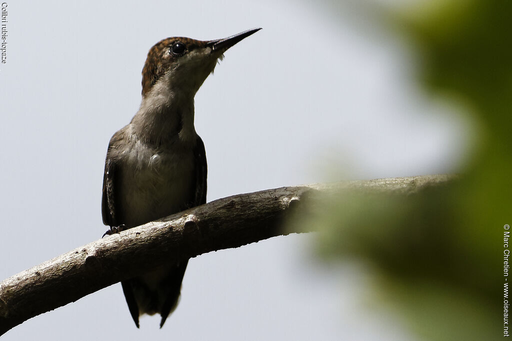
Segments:
[[[106,147],[140,103],[148,49],[168,36],[263,30],[226,52],[196,96],[208,196],[450,172],[464,123],[423,98],[410,53],[348,7],[299,1],[8,1],[0,65],[0,280],[101,237]],[[428,114],[428,115],[425,115]],[[319,266],[312,235],[190,261],[162,330],[137,330],[119,284],[2,340],[409,340],[365,299],[354,264]],[[384,317],[382,317],[384,316]]]

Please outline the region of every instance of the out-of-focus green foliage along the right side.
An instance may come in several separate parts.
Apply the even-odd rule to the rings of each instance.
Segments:
[[[512,2],[498,0],[382,11],[382,25],[412,41],[423,89],[459,103],[476,122],[471,162],[449,186],[407,196],[350,193],[301,218],[323,226],[323,257],[367,263],[374,294],[425,339],[502,337],[501,238],[512,222],[511,15]]]

